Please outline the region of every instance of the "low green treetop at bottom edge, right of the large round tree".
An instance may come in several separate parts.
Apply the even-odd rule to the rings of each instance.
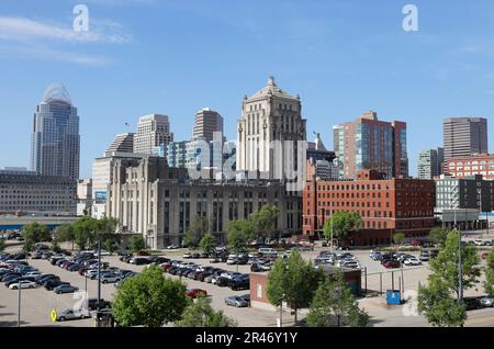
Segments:
[[[199,297],[186,307],[182,319],[176,325],[178,327],[236,327],[237,323],[224,315],[222,311],[214,311],[211,299]]]

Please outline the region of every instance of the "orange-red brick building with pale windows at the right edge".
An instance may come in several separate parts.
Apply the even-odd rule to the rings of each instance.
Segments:
[[[448,159],[445,162],[445,173],[456,178],[481,174],[484,179],[494,180],[494,154],[479,154]]]

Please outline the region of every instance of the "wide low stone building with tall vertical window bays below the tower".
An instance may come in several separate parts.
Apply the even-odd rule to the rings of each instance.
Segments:
[[[300,195],[281,181],[193,181],[187,169],[168,167],[164,158],[144,158],[112,166],[109,216],[123,234],[142,234],[150,248],[180,244],[197,215],[209,217],[210,230],[225,241],[229,221],[247,218],[265,204],[280,207],[277,229],[300,234]]]

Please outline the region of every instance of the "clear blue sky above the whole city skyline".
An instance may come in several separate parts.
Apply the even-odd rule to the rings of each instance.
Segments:
[[[89,33],[72,8],[89,8]],[[418,7],[418,32],[402,29]],[[217,110],[235,138],[244,94],[270,75],[300,94],[307,136],[333,148],[334,124],[374,110],[408,124],[418,151],[442,144],[446,116],[484,116],[494,145],[494,1],[2,0],[0,167],[29,166],[44,89],[63,82],[79,110],[81,177],[139,115],[171,117],[189,138],[195,111]]]

